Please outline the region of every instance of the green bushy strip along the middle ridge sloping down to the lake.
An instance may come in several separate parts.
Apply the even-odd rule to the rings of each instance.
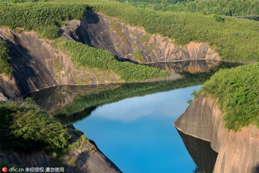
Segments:
[[[87,68],[98,68],[104,71],[113,71],[125,82],[141,81],[149,78],[165,77],[167,71],[156,68],[136,65],[129,62],[119,62],[115,56],[106,50],[89,47],[85,44],[64,41],[59,47],[71,55],[71,60],[77,65]]]

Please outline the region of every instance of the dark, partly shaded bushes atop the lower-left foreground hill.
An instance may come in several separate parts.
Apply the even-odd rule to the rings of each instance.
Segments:
[[[27,99],[28,101],[28,99]],[[33,103],[1,102],[1,150],[64,154],[71,138],[65,125]]]

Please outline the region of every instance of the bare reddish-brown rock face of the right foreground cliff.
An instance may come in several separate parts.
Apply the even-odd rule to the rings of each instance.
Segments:
[[[258,172],[259,129],[249,126],[236,133],[228,131],[215,104],[200,95],[174,125],[179,131],[211,142],[218,152],[213,172]]]

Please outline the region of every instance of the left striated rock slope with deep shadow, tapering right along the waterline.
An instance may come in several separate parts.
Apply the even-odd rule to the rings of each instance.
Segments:
[[[59,48],[53,48],[47,40],[37,37],[35,32],[22,31],[17,34],[9,29],[0,29],[0,38],[10,45],[9,56],[13,68],[11,80],[0,76],[1,93],[5,97],[22,97],[32,91],[60,84],[110,83],[111,79],[118,81],[116,74],[75,68],[68,55]]]

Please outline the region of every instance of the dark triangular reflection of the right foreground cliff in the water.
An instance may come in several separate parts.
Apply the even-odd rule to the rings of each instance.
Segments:
[[[197,172],[212,173],[218,153],[214,151],[210,142],[187,135],[177,129],[182,141],[191,155],[194,163],[198,166]]]

